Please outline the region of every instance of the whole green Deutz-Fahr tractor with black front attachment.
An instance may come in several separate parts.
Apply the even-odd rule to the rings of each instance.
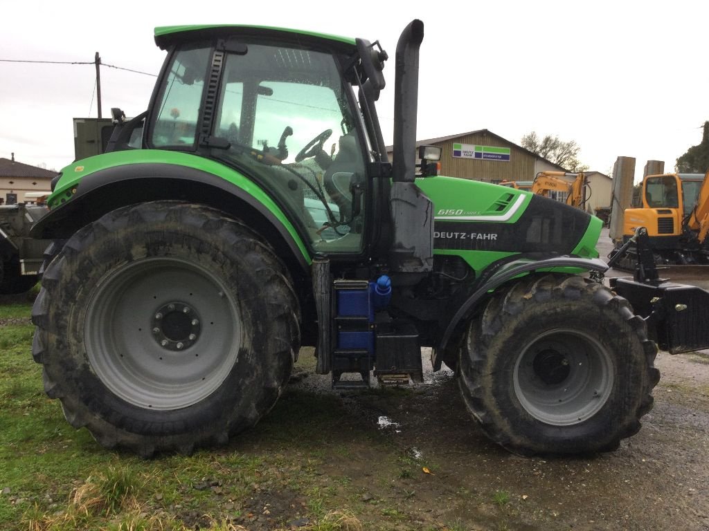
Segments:
[[[690,326],[709,294],[612,292],[596,217],[430,176],[431,147],[417,165],[422,40],[413,21],[396,48],[390,162],[378,42],[157,28],[148,110],[115,110],[108,152],[63,169],[33,227],[54,241],[33,356],[72,426],[147,457],[223,445],[315,346],[336,389],[420,380],[430,347],[482,430],[523,455],[613,450],[639,430],[655,342],[709,343]]]

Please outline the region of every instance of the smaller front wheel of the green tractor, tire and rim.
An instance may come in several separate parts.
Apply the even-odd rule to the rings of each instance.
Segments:
[[[652,409],[656,354],[625,299],[578,276],[530,277],[471,322],[459,385],[481,428],[512,452],[615,450]]]

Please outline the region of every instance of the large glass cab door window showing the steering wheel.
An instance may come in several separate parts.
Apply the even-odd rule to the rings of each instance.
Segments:
[[[248,44],[228,55],[215,153],[272,194],[311,245],[357,252],[364,225],[364,156],[335,58]],[[215,150],[216,152],[216,150]]]

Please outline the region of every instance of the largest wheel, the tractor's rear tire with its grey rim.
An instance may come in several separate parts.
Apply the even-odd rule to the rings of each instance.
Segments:
[[[43,274],[35,361],[69,423],[145,457],[224,444],[277,401],[300,336],[272,249],[216,210],[123,207]]]

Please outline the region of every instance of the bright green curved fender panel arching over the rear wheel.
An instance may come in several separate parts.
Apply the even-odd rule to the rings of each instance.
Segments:
[[[295,227],[291,224],[281,208],[261,187],[238,171],[230,169],[228,166],[189,153],[162,149],[130,149],[128,151],[91,156],[88,159],[76,161],[62,169],[62,178],[60,178],[60,181],[57,183],[55,191],[48,198],[48,205],[50,208],[57,207],[60,205],[62,199],[66,200],[67,197],[73,197],[74,194],[72,190],[77,190],[77,193],[80,193],[82,178],[91,173],[128,164],[174,164],[175,166],[212,173],[215,176],[223,178],[225,181],[228,181],[245,193],[251,195],[255,200],[259,201],[264,208],[272,212],[274,217],[283,224],[296,242],[306,262],[311,263],[310,254],[305,244],[303,244],[303,240],[298,235],[298,232],[296,232]]]

